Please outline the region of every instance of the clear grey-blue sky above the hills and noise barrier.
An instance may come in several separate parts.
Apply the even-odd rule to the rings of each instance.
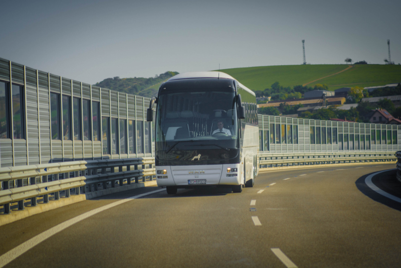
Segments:
[[[0,58],[90,84],[238,67],[401,63],[401,1],[12,1]]]

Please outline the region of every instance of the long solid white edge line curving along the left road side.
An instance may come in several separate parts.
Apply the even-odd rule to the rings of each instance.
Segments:
[[[46,240],[47,238],[55,235],[56,233],[64,230],[65,228],[70,227],[71,225],[84,220],[86,218],[89,218],[90,216],[93,216],[99,212],[102,212],[106,209],[121,205],[125,202],[131,201],[132,199],[136,199],[145,195],[149,195],[149,194],[153,194],[156,192],[160,192],[160,191],[164,191],[164,189],[159,189],[159,190],[155,190],[155,191],[151,191],[151,192],[147,192],[147,193],[142,193],[142,194],[138,194],[135,196],[131,196],[113,203],[110,203],[108,205],[104,205],[98,208],[95,208],[93,210],[90,210],[88,212],[85,212],[79,216],[76,216],[72,219],[66,220],[52,228],[50,228],[47,231],[44,231],[34,237],[32,237],[31,239],[29,239],[28,241],[20,244],[19,246],[11,249],[10,251],[4,253],[3,255],[0,256],[0,268],[7,265],[8,263],[10,263],[11,261],[13,261],[14,259],[16,259],[17,257],[21,256],[22,254],[24,254],[25,252],[27,252],[28,250],[30,250],[32,247],[36,246],[37,244],[43,242],[44,240]]]

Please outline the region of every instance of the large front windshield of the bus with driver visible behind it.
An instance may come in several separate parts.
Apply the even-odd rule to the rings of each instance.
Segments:
[[[159,95],[157,150],[234,149],[238,148],[237,136],[234,90],[178,90]]]

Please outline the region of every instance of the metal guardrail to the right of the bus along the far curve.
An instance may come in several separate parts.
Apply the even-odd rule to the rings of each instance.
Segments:
[[[319,164],[343,164],[363,163],[378,161],[396,161],[394,153],[279,153],[260,154],[259,168],[297,166],[297,165],[319,165]],[[398,160],[399,161],[399,160]]]

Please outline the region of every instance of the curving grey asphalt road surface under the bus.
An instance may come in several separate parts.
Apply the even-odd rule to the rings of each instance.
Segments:
[[[401,204],[364,184],[367,174],[392,168],[262,173],[242,193],[163,190],[72,224],[5,267],[399,267]],[[391,172],[373,182],[383,178],[400,187]],[[1,226],[0,255],[85,212],[157,189],[103,196]]]

